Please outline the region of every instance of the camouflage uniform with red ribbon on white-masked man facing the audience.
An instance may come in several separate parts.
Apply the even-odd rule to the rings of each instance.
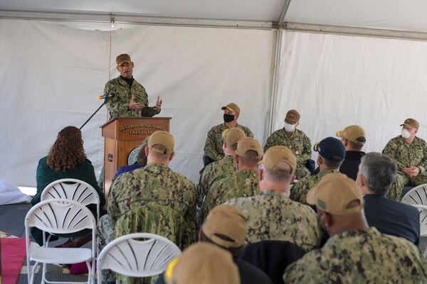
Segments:
[[[288,136],[285,129],[276,130],[268,137],[264,153],[272,146],[286,146],[297,157],[297,169],[295,170],[297,180],[310,175],[310,170],[307,169],[305,163],[311,158],[312,148],[310,138],[304,132],[295,129],[295,132]]]

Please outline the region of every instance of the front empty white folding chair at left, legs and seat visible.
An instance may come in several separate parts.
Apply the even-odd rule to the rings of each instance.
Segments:
[[[43,246],[30,251],[30,227],[36,226],[43,231]],[[70,234],[83,229],[92,229],[92,249],[49,248],[45,232],[53,234]],[[88,266],[88,282],[95,283],[95,229],[96,221],[92,212],[83,204],[73,200],[52,199],[34,205],[25,217],[26,262],[28,284],[34,281],[34,273],[39,263],[43,263],[41,283],[64,283],[46,280],[46,263],[80,263]],[[31,261],[35,261],[31,270]],[[92,267],[90,266],[92,262]],[[76,283],[76,282],[68,282]]]

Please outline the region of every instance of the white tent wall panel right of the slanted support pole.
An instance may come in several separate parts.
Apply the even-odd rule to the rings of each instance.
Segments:
[[[357,124],[367,131],[364,151],[381,152],[408,117],[418,120],[418,137],[426,139],[427,43],[282,33],[273,129],[297,109],[299,129],[312,144]]]

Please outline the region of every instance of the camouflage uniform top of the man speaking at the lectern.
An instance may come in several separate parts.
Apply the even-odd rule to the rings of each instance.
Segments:
[[[154,107],[148,107],[148,95],[145,92],[142,84],[139,84],[137,80],[134,80],[132,87],[122,77],[112,79],[105,84],[104,94],[115,94],[115,97],[107,99],[105,105],[107,106],[110,114],[110,119],[116,117],[151,117],[159,114],[160,110],[154,109]],[[135,102],[145,104],[142,109],[128,109],[130,98],[134,95]]]

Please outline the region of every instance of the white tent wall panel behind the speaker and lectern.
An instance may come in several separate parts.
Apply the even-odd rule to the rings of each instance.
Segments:
[[[150,105],[163,99],[172,116],[171,168],[198,179],[206,133],[221,123],[221,106],[241,107],[239,123],[263,143],[268,129],[274,31],[138,26],[83,31],[36,21],[0,21],[1,178],[35,186],[36,166],[64,126],[81,124],[95,98],[119,74],[115,56],[129,53]],[[103,108],[83,128],[88,158],[102,166]]]

